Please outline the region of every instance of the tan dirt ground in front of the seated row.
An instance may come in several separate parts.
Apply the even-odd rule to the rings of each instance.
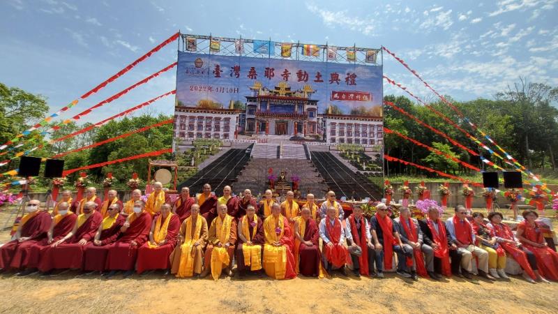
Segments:
[[[0,223],[6,220],[0,213]],[[557,227],[556,221],[554,222]],[[0,232],[0,242],[9,239]],[[289,281],[269,278],[163,278],[155,273],[105,280],[0,275],[0,313],[558,313],[558,283],[530,284],[461,278],[444,282],[386,278],[303,276]]]

